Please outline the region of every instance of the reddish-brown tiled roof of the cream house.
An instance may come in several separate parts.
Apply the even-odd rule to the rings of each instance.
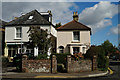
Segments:
[[[91,30],[91,28],[75,20],[72,20],[63,26],[58,27],[57,30]]]

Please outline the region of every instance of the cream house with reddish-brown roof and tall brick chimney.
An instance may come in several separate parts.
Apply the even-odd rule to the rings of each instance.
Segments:
[[[90,47],[91,28],[78,22],[74,12],[73,20],[57,28],[57,53],[83,53]]]

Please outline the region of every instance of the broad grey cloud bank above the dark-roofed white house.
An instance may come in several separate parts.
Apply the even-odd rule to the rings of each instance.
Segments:
[[[39,12],[52,11],[53,23],[61,22],[65,24],[72,20],[72,10],[77,9],[75,3],[67,2],[3,2],[3,19],[10,21],[14,17],[21,16],[21,13],[28,13],[34,9]]]

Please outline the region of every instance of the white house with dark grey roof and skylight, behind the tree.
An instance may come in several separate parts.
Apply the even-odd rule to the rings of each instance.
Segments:
[[[5,26],[5,55],[7,57],[13,57],[15,54],[20,53],[34,53],[36,50],[30,49],[27,46],[29,41],[28,30],[30,26],[39,26],[40,28],[47,30],[49,35],[57,37],[57,31],[52,24],[51,11],[38,12],[33,10],[29,13],[22,14],[20,17],[15,17],[14,20],[8,22]]]

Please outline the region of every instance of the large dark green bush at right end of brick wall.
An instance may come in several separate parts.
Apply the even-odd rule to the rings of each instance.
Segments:
[[[109,60],[105,56],[105,50],[102,46],[91,46],[91,48],[85,54],[85,58],[93,59],[93,56],[97,56],[97,67],[100,70],[107,70]]]

